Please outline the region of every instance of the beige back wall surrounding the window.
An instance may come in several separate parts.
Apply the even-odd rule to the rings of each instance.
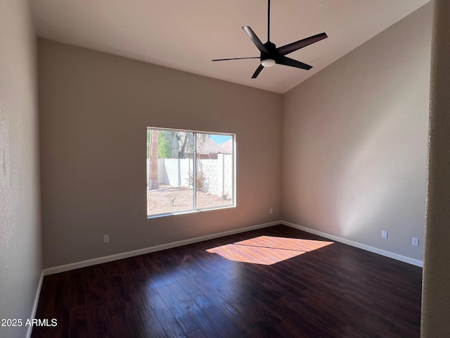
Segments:
[[[46,268],[281,218],[280,94],[38,45]],[[147,126],[236,133],[237,207],[148,220]]]

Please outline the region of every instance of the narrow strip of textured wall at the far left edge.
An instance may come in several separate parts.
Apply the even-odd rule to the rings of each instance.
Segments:
[[[37,52],[29,6],[0,1],[0,318],[23,320],[32,315],[42,270]],[[0,337],[23,338],[28,328],[0,326]]]

